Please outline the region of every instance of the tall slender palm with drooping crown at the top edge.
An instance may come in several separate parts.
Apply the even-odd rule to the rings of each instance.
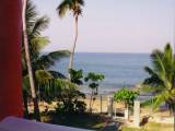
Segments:
[[[78,40],[78,21],[79,21],[79,15],[82,14],[82,7],[84,5],[83,0],[63,0],[57,8],[58,14],[60,17],[63,17],[67,13],[67,11],[71,11],[73,13],[73,17],[75,21],[75,37],[74,37],[74,43],[71,48],[71,53],[70,53],[70,62],[69,62],[69,69],[73,68],[73,56],[74,56],[74,49],[75,49],[75,44]]]

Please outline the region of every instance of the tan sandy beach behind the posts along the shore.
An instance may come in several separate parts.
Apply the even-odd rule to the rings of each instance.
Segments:
[[[102,96],[102,102],[101,102],[101,96]],[[101,114],[101,112],[107,112],[107,97],[109,95],[98,95],[96,96],[96,99],[94,100],[92,111],[93,114]],[[90,96],[86,96],[85,99],[82,99],[86,104],[86,109],[89,109],[89,104],[90,104]],[[33,111],[33,105],[31,104],[30,106],[30,111]],[[39,103],[39,109],[40,111],[45,111],[46,108],[48,110],[55,110],[57,107],[57,103],[52,102],[52,104],[48,105],[47,103]],[[116,103],[114,102],[113,104],[113,110],[115,109],[120,110],[119,112],[124,112],[125,106],[122,103]],[[144,107],[140,109],[140,119],[142,119],[145,116],[150,116],[150,121],[154,122],[162,122],[162,123],[173,123],[173,116],[170,116],[168,110],[156,110],[153,111],[151,107]],[[130,115],[130,121],[132,121],[132,115]]]

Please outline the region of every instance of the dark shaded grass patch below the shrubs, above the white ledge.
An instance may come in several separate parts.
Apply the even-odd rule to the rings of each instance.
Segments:
[[[61,124],[81,129],[102,130],[105,127],[105,118],[100,115],[92,114],[47,114],[42,115],[44,122]]]

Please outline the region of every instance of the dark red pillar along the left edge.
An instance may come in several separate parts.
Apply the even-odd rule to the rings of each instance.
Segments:
[[[21,0],[0,0],[0,120],[23,116]]]

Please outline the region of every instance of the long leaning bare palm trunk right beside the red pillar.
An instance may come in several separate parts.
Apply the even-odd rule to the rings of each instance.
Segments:
[[[27,32],[26,32],[25,11],[26,11],[26,0],[23,0],[22,17],[23,17],[23,37],[24,37],[25,59],[26,59],[28,76],[30,76],[31,94],[32,94],[32,99],[33,99],[33,103],[34,103],[35,119],[40,121],[38,99],[37,99],[37,96],[36,96],[35,81],[34,81],[33,69],[32,69],[31,57],[30,57],[30,47],[28,47],[28,38],[27,38]]]

